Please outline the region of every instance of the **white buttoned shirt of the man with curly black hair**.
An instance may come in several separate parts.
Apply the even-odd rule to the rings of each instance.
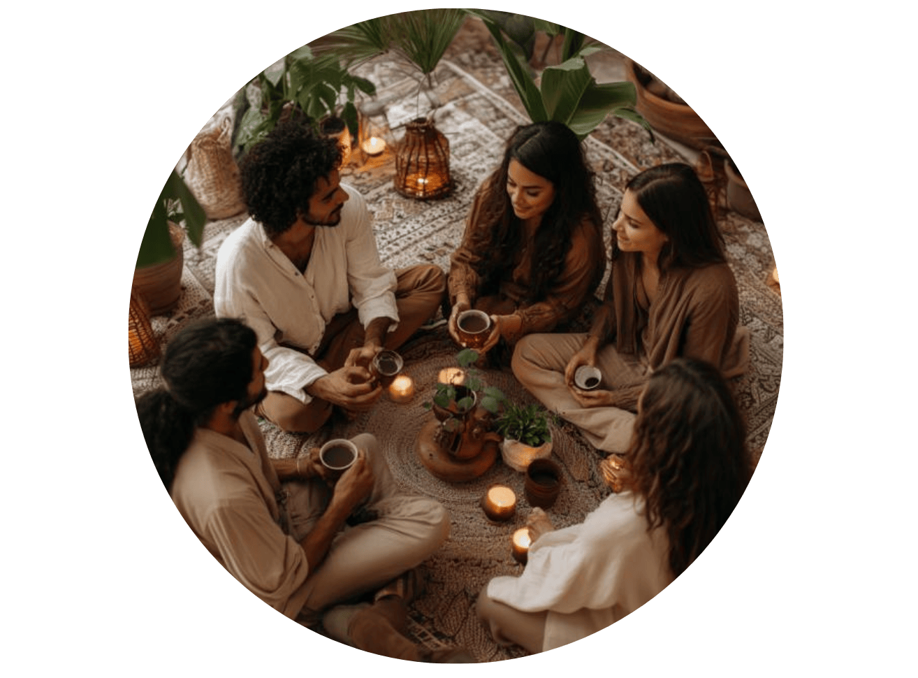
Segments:
[[[252,219],[230,233],[217,254],[218,317],[252,327],[269,360],[268,390],[303,403],[312,401],[304,388],[328,374],[306,354],[315,354],[331,318],[353,304],[364,327],[375,318],[390,318],[391,331],[398,322],[396,275],[379,261],[364,197],[351,186],[341,188],[349,196],[341,222],[316,227],[304,274]]]

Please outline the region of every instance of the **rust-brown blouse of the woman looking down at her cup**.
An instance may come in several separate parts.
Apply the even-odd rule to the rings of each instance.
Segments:
[[[473,305],[480,296],[483,280],[479,270],[489,256],[493,235],[482,219],[483,192],[479,190],[476,195],[465,222],[462,243],[451,259],[448,285],[450,302],[453,304],[460,292],[464,292]],[[515,261],[508,261],[505,265],[498,293],[514,302],[515,314],[521,318],[520,333],[505,337],[512,345],[526,334],[551,332],[559,323],[568,322],[577,315],[588,295],[595,291],[595,285],[605,271],[606,254],[602,234],[592,221],[580,222],[572,233],[564,270],[554,280],[545,299],[535,303],[524,301],[532,283],[532,267],[538,265],[532,261],[532,250],[529,247],[523,248]]]

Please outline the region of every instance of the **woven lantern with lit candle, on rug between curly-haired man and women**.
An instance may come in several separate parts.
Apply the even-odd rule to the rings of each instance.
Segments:
[[[442,198],[453,188],[450,181],[450,142],[433,122],[413,119],[396,154],[396,190],[406,198]]]

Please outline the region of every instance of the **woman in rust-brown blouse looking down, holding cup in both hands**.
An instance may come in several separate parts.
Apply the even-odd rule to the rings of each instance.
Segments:
[[[583,147],[565,124],[517,128],[478,189],[449,276],[449,329],[468,309],[491,316],[479,353],[509,364],[512,347],[577,315],[605,272],[602,218]],[[492,350],[494,349],[494,350]]]

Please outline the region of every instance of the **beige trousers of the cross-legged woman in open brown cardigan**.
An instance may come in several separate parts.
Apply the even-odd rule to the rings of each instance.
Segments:
[[[606,452],[623,453],[631,441],[634,414],[617,407],[583,407],[565,384],[565,367],[583,348],[587,334],[530,334],[513,353],[513,374],[543,405],[583,432],[590,445]],[[635,356],[618,353],[607,344],[599,349],[596,367],[605,388],[630,386],[650,371]]]

